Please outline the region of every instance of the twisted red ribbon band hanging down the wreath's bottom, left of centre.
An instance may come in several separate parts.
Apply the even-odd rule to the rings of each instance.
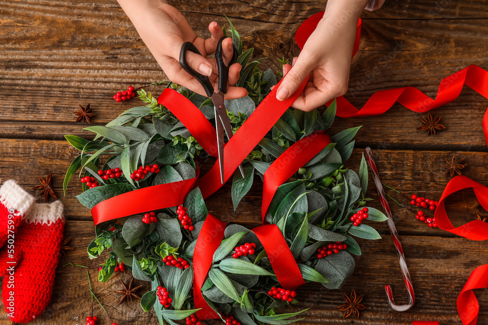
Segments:
[[[212,265],[213,254],[224,238],[224,231],[225,222],[209,214],[203,223],[195,245],[195,254],[193,256],[193,302],[195,308],[202,308],[197,311],[197,318],[200,320],[220,318],[203,298],[202,286]]]

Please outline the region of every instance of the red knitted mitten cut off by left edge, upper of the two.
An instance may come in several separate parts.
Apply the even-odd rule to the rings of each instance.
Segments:
[[[0,188],[0,247],[7,241],[15,240],[20,222],[29,212],[34,197],[24,191],[15,181],[8,180]]]

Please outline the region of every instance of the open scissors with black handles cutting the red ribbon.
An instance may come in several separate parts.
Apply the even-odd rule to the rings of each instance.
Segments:
[[[191,42],[184,42],[180,52],[180,65],[182,66],[184,71],[189,73],[202,84],[205,93],[207,94],[207,96],[212,98],[212,102],[214,104],[215,128],[217,130],[217,149],[219,152],[220,180],[222,184],[224,184],[224,130],[225,134],[227,134],[228,140],[230,140],[233,135],[232,127],[230,126],[230,119],[225,109],[224,94],[227,92],[229,67],[232,64],[236,63],[238,56],[235,45],[232,45],[232,48],[234,50],[232,59],[230,60],[228,65],[225,65],[222,50],[222,41],[224,39],[225,37],[219,39],[219,43],[217,44],[217,51],[215,51],[215,59],[217,60],[217,69],[219,71],[219,85],[217,92],[214,91],[214,88],[208,76],[203,76],[202,74],[194,71],[186,62],[186,51],[191,51],[193,53],[201,55],[197,47]],[[239,165],[239,171],[241,171],[241,175],[244,178],[244,169],[242,164]]]

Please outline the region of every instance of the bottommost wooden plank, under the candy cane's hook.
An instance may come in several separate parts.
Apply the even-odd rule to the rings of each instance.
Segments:
[[[74,250],[62,257],[56,272],[56,284],[52,305],[43,316],[30,324],[84,324],[90,315],[90,295],[86,268],[62,265],[72,263],[93,267],[89,269],[95,294],[111,317],[120,324],[157,324],[153,312],[144,313],[138,303],[119,306],[120,295],[113,291],[121,288],[119,280],[129,281],[130,273],[116,273],[107,283],[97,279],[97,266],[102,258],[89,260],[86,246],[93,238],[93,227],[87,221],[68,219],[65,237],[73,237],[70,245]],[[438,320],[442,325],[459,324],[456,312],[456,298],[471,270],[486,262],[483,243],[464,238],[440,238],[432,236],[402,236],[413,286],[416,305],[408,312],[394,312],[386,302],[385,285],[391,285],[399,303],[405,302],[405,289],[400,274],[391,237],[368,242],[363,245],[363,255],[356,257],[356,271],[341,290],[327,290],[318,285],[305,285],[298,289],[300,303],[289,310],[310,308],[303,313],[305,319],[296,324],[354,324],[364,325],[410,325],[413,320]],[[378,257],[380,256],[380,257]],[[359,320],[342,320],[342,313],[336,310],[342,305],[341,292],[355,289],[365,294],[363,300],[367,309]],[[146,286],[141,293],[148,290]],[[482,306],[488,303],[486,291],[477,292]],[[288,311],[289,311],[288,310]],[[99,325],[108,325],[108,319],[100,306],[94,305],[94,312],[100,319]],[[10,324],[5,313],[0,313],[0,324]],[[488,313],[482,309],[479,323],[488,321]]]

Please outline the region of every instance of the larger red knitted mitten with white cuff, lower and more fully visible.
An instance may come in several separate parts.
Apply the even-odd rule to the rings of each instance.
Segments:
[[[34,204],[20,227],[14,243],[20,262],[12,263],[18,256],[9,256],[6,251],[0,256],[0,264],[8,266],[2,297],[10,319],[27,323],[41,315],[51,300],[64,229],[61,201]]]

